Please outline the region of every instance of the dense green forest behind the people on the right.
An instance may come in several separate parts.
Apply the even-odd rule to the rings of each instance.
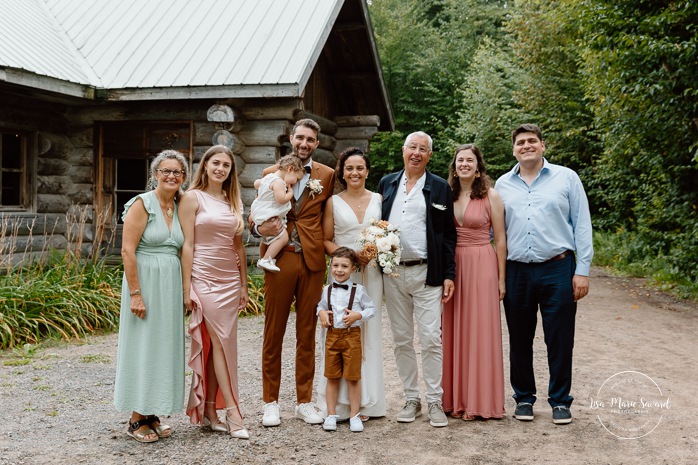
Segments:
[[[371,145],[372,186],[415,130],[434,139],[431,171],[475,143],[496,179],[516,161],[511,130],[536,123],[546,158],[585,185],[595,263],[696,289],[698,2],[369,4],[396,119]]]

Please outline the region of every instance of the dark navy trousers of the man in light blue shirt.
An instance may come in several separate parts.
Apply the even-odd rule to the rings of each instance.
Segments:
[[[577,313],[572,290],[575,267],[574,254],[546,263],[507,261],[504,313],[509,328],[511,386],[517,403],[536,401],[533,338],[540,308],[550,372],[548,403],[553,407],[572,404],[572,349]]]

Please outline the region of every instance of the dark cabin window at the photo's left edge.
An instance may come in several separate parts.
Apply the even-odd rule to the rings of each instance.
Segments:
[[[26,167],[26,136],[16,132],[0,132],[0,209],[26,209]]]

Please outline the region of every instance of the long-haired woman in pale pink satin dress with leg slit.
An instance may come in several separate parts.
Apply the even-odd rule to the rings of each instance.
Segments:
[[[233,153],[213,146],[179,206],[184,305],[192,312],[187,415],[192,424],[249,439],[237,382],[237,316],[248,301],[242,208]]]

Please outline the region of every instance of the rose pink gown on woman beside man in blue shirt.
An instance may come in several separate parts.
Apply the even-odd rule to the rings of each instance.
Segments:
[[[490,201],[470,199],[456,221],[455,293],[444,306],[443,406],[482,418],[504,416],[504,367],[497,254]]]

